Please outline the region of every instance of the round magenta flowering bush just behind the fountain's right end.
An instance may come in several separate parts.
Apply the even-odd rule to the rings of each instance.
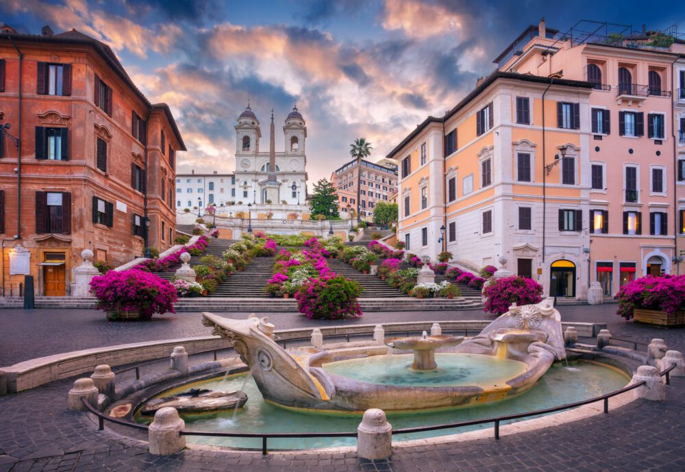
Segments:
[[[494,314],[506,313],[512,303],[519,306],[540,303],[543,286],[526,277],[503,277],[494,279],[483,289],[484,311]]]

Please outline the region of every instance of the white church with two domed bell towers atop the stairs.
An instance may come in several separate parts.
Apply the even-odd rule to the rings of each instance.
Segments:
[[[269,149],[260,151],[262,128],[249,105],[236,128],[236,203],[305,205],[307,198],[307,127],[297,106],[283,126],[284,151],[275,151],[271,110]]]

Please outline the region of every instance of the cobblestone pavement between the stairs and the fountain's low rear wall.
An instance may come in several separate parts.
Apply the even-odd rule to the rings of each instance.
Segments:
[[[613,330],[628,325],[616,316],[616,305],[561,306],[564,321],[608,323]],[[247,318],[247,313],[218,313]],[[443,312],[369,312],[347,321],[308,320],[297,313],[258,313],[269,316],[276,329],[316,327],[335,324],[373,324],[393,321],[440,321],[490,319],[482,310]],[[201,314],[184,312],[155,316],[152,321],[106,321],[95,310],[0,310],[0,366],[23,360],[79,349],[138,343],[149,340],[207,336],[210,330],[201,323]],[[639,329],[639,328],[638,328]]]

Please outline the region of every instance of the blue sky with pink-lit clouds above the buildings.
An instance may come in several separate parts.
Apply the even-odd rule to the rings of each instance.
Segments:
[[[545,17],[641,29],[673,23],[685,2],[625,0],[0,0],[0,23],[40,34],[77,29],[108,43],[153,103],[168,103],[188,151],[177,172],[234,170],[248,101],[269,146],[292,107],[306,120],[312,183],[347,162],[349,143],[386,156],[426,116],[441,116],[495,69],[493,59]]]

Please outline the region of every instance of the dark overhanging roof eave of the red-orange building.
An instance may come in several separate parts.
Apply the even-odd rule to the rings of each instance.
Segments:
[[[150,110],[162,110],[166,114],[166,118],[169,120],[169,124],[171,125],[171,129],[174,132],[174,135],[176,136],[176,139],[179,142],[179,145],[181,146],[182,151],[186,151],[186,145],[183,142],[183,138],[181,137],[181,134],[178,130],[178,127],[176,125],[176,121],[173,118],[173,114],[171,114],[171,110],[169,109],[169,106],[166,105],[165,103],[156,103],[153,105],[150,103],[150,101],[145,97],[145,95],[140,92],[136,84],[134,84],[133,80],[131,77],[129,77],[128,73],[124,69],[124,67],[121,65],[121,62],[119,62],[119,59],[116,57],[116,54],[114,54],[114,51],[106,45],[104,42],[101,42],[95,38],[91,38],[87,34],[83,34],[82,32],[77,31],[76,29],[71,29],[71,31],[68,32],[63,32],[60,34],[55,34],[53,36],[42,36],[39,34],[20,34],[20,33],[4,33],[0,34],[0,42],[3,42],[5,40],[19,40],[19,41],[25,41],[25,42],[37,42],[37,43],[45,43],[49,45],[85,45],[85,46],[90,46],[93,49],[95,49],[95,52],[98,53],[98,55],[105,61],[105,63],[110,66],[112,71],[116,73],[116,75],[119,75],[119,77],[123,80],[123,82],[131,89],[133,90],[134,94],[140,101],[142,101],[143,104]]]

